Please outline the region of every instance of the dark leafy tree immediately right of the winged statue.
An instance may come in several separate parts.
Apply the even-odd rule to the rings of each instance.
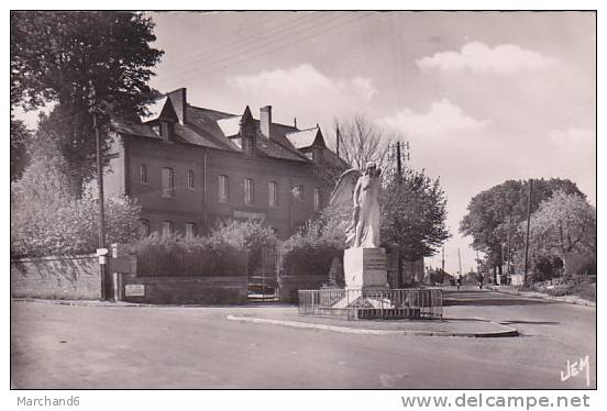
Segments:
[[[434,255],[450,237],[446,199],[439,179],[407,169],[387,181],[382,200],[382,241],[405,260]]]

